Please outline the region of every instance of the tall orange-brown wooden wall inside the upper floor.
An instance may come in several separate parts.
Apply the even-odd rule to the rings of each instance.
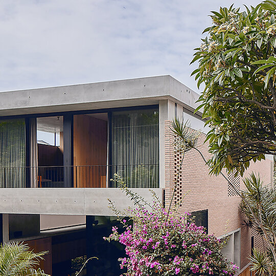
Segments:
[[[87,115],[75,115],[74,166],[80,167],[74,168],[74,187],[106,187],[106,159],[107,122]]]

